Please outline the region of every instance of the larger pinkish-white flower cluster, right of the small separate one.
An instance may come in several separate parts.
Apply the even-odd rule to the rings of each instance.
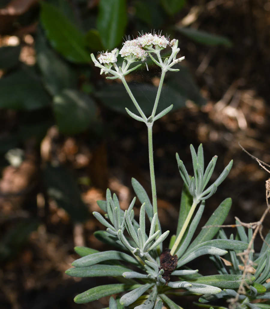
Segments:
[[[148,55],[145,49],[150,49],[152,46],[159,46],[160,48],[166,48],[169,44],[169,40],[165,36],[151,33],[145,33],[134,40],[127,40],[123,43],[123,47],[119,54],[121,57],[135,57],[136,60],[144,61]]]

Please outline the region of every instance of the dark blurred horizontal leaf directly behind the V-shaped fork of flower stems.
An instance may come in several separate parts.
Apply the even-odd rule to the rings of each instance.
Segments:
[[[157,87],[143,83],[129,84],[129,87],[145,115],[150,116],[156,98]],[[125,108],[128,108],[132,113],[139,115],[139,112],[122,84],[104,85],[102,90],[95,92],[94,95],[100,99],[106,107],[116,112],[126,115]],[[162,112],[171,104],[174,104],[172,110],[177,110],[185,106],[186,98],[183,98],[178,91],[170,87],[164,87],[161,91],[156,114]]]

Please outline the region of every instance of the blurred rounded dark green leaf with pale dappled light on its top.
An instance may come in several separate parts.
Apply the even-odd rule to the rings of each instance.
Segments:
[[[95,102],[73,89],[64,89],[54,97],[53,110],[59,131],[64,134],[85,131],[96,116]]]

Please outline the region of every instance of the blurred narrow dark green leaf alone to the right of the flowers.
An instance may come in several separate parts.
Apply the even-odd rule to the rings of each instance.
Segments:
[[[225,36],[220,36],[217,34],[212,34],[203,30],[198,30],[194,28],[184,28],[175,26],[175,30],[187,36],[195,42],[207,45],[207,46],[218,46],[223,45],[226,47],[231,47],[232,42]]]

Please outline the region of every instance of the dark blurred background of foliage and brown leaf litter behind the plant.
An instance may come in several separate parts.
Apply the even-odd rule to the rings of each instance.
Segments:
[[[113,278],[64,272],[78,257],[74,246],[109,248],[93,236],[104,229],[92,212],[106,188],[122,209],[134,196],[131,177],[151,196],[147,130],[127,116],[132,102],[122,84],[106,80],[90,60],[91,53],[121,48],[126,36],[162,30],[186,57],[166,76],[161,95],[160,108],[174,110],[153,126],[163,230],[176,230],[182,180],[175,153],[191,172],[191,143],[203,143],[206,162],[218,155],[213,179],[234,159],[206,202],[201,226],[226,197],[233,206],[225,224],[234,216],[259,220],[268,174],[238,142],[270,163],[269,25],[266,0],[0,0],[1,308],[108,306],[109,298],[78,305],[73,297]],[[160,77],[147,64],[149,70],[143,64],[127,76],[145,111]],[[135,206],[138,215],[139,201]],[[269,217],[264,226],[266,235]],[[208,257],[199,271],[214,273]],[[193,308],[197,298],[176,302]]]

